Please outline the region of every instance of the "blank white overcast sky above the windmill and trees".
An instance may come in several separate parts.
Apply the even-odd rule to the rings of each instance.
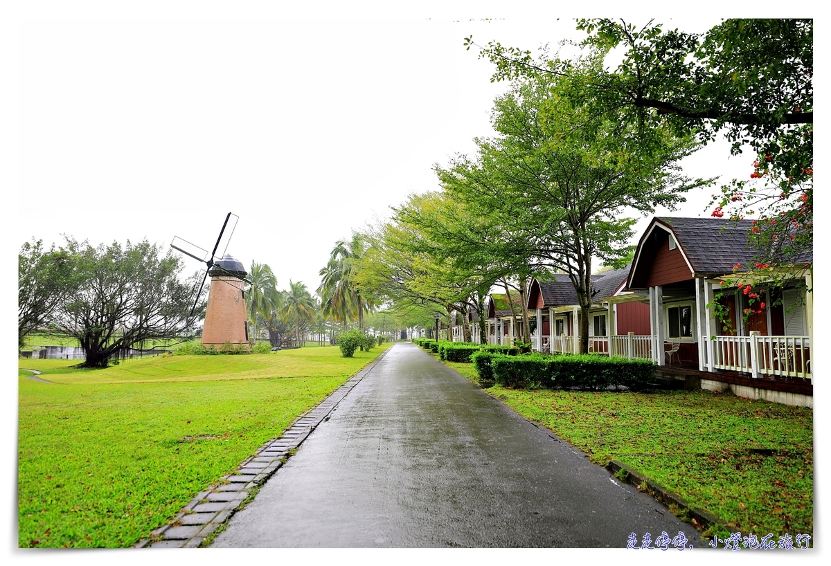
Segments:
[[[491,133],[506,85],[464,37],[529,49],[584,37],[550,10],[487,12],[31,13],[19,27],[16,248],[66,233],[210,249],[230,211],[229,253],[313,291],[337,239],[436,188],[433,165]],[[691,31],[719,21],[664,19]],[[686,170],[732,178],[751,161],[718,144]],[[710,194],[678,214],[701,214]]]

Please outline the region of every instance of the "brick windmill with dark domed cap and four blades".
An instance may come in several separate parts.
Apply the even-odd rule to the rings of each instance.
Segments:
[[[194,298],[194,306],[190,310],[190,314],[193,315],[199,303],[199,296],[202,295],[205,281],[210,276],[208,306],[205,309],[205,322],[202,329],[202,344],[206,346],[210,344],[223,346],[226,342],[248,344],[248,315],[245,310],[243,291],[243,283],[249,283],[245,278],[248,273],[242,263],[226,253],[238,219],[237,215],[228,213],[222,229],[219,230],[219,237],[216,239],[213,251],[204,250],[178,236],[174,237],[173,242],[170,243],[173,249],[207,266],[202,284],[199,285],[199,291]],[[216,252],[220,247],[222,256],[216,260]]]

